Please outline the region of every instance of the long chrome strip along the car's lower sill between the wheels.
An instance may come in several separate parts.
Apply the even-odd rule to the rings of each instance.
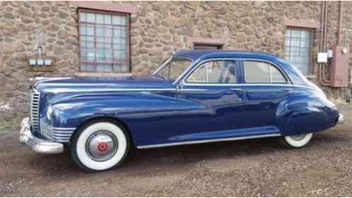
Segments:
[[[145,146],[139,146],[138,149],[150,149],[150,148],[158,148],[158,147],[172,147],[172,146],[179,146],[179,145],[186,145],[186,144],[203,144],[209,142],[225,142],[225,141],[234,141],[234,140],[250,140],[256,138],[263,138],[263,137],[278,137],[281,136],[280,133],[273,133],[269,135],[252,135],[247,137],[229,137],[229,138],[220,138],[220,139],[211,139],[211,140],[196,140],[196,141],[188,141],[188,142],[172,142],[166,144],[151,144]]]

